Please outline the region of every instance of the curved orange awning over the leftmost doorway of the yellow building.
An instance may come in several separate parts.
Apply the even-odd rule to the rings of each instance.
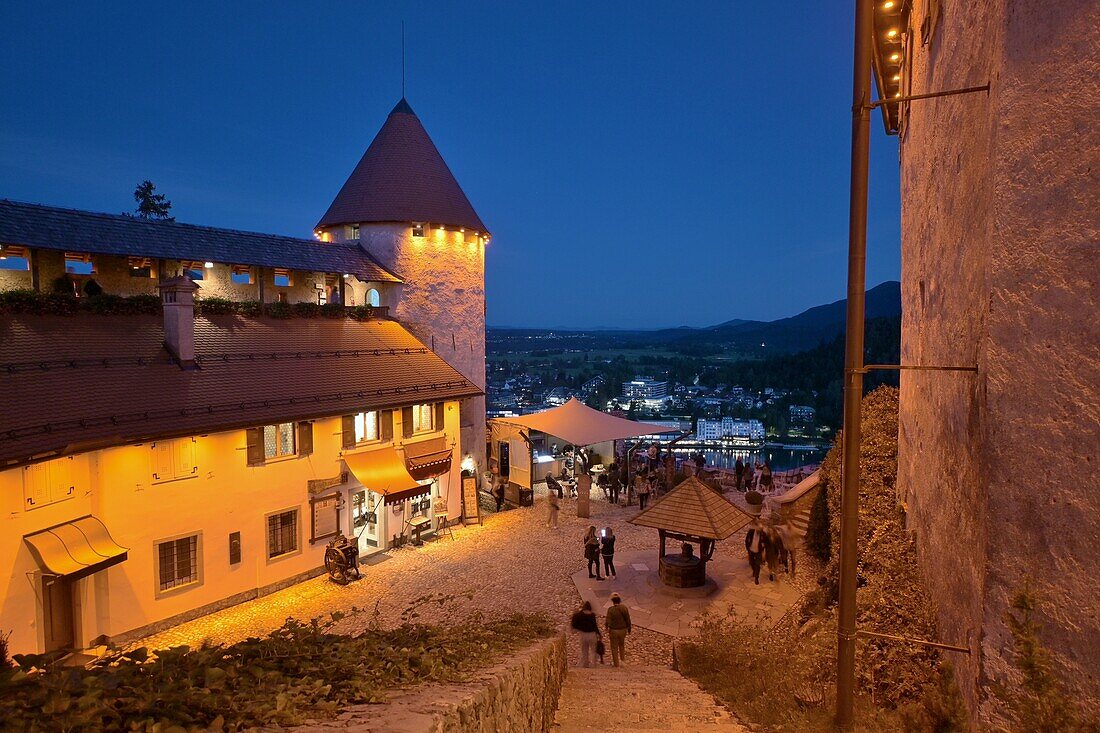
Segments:
[[[43,572],[72,580],[122,562],[128,551],[91,515],[25,535],[23,541]]]

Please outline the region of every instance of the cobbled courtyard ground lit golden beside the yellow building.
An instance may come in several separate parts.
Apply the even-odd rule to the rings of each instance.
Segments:
[[[402,614],[416,605],[424,623],[455,623],[473,614],[506,616],[515,611],[542,612],[568,624],[580,595],[570,576],[585,566],[581,538],[590,524],[610,526],[618,537],[616,550],[657,549],[653,529],[627,524],[637,506],[618,507],[593,500],[592,517],[576,517],[575,501],[565,500],[558,529],[547,527],[544,491],[536,505],[486,514],[484,524],[455,527],[454,540],[444,536],[424,547],[386,553],[387,559],[363,567],[362,580],[345,587],[319,577],[270,595],[212,613],[148,636],[139,646],[164,648],[197,645],[209,639],[230,644],[277,628],[287,617],[328,617],[333,611],[349,614],[333,630],[360,633],[371,625],[402,623]],[[732,537],[729,543],[738,541]],[[442,603],[417,603],[431,595]],[[353,609],[356,611],[353,612]],[[601,620],[601,626],[603,625]],[[570,663],[578,663],[578,644],[570,637]],[[627,663],[668,665],[672,637],[635,628],[627,641]],[[607,661],[610,663],[608,652]]]

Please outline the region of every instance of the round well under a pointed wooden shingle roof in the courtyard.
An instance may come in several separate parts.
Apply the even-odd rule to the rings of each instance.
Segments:
[[[654,527],[661,539],[660,576],[667,586],[695,588],[706,582],[706,562],[714,543],[725,539],[751,518],[725,496],[692,477],[630,519],[630,524]],[[666,554],[666,540],[684,543],[679,554]],[[698,556],[691,545],[698,545]]]

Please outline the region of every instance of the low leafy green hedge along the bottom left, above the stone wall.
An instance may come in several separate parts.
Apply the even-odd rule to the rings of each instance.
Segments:
[[[380,702],[400,686],[462,680],[553,633],[547,619],[520,614],[331,633],[342,615],[292,619],[232,646],[133,649],[88,669],[43,668],[41,655],[16,656],[20,667],[0,672],[0,720],[19,731],[267,730]]]

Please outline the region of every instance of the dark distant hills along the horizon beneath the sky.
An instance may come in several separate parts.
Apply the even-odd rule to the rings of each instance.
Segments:
[[[792,352],[812,349],[844,332],[848,300],[840,299],[803,310],[796,316],[778,320],[744,320],[735,318],[705,328],[664,328],[658,330],[578,329],[518,329],[491,328],[491,340],[508,339],[522,333],[585,333],[597,338],[604,346],[646,346],[657,342],[708,344],[721,343],[748,353]],[[901,315],[901,283],[889,281],[867,291],[867,318],[898,318]],[[612,341],[614,343],[606,343]]]

